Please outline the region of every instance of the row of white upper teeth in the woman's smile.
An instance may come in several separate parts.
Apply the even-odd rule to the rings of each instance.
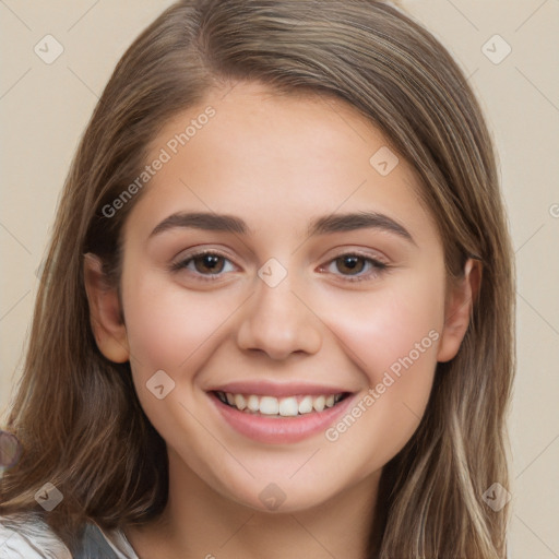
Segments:
[[[322,412],[332,407],[343,397],[343,394],[329,394],[319,396],[288,396],[277,399],[274,396],[258,396],[255,394],[231,394],[217,392],[222,402],[227,402],[245,413],[270,415],[276,417],[295,417],[297,415]]]

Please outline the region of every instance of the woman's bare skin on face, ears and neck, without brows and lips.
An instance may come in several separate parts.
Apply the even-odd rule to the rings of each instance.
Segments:
[[[85,260],[97,344],[107,358],[130,360],[168,449],[165,513],[126,534],[141,558],[361,558],[382,467],[416,430],[437,361],[460,347],[478,271],[468,261],[448,286],[411,166],[400,158],[381,176],[369,159],[388,141],[341,100],[277,96],[254,83],[214,91],[164,127],[148,160],[209,105],[215,117],[154,176],[127,219],[122,307],[98,259]],[[240,217],[252,233],[175,227],[151,236],[176,212],[209,211]],[[359,211],[388,215],[413,242],[374,228],[307,235],[319,216]],[[201,280],[206,269],[192,261],[170,270],[194,248],[226,257],[217,280]],[[358,260],[353,273],[365,278],[350,282],[335,259],[356,250],[389,267]],[[287,271],[275,287],[258,275],[271,258]],[[357,402],[429,332],[438,340],[333,442],[324,432],[255,442],[206,394],[231,380],[306,381],[344,386]],[[175,389],[158,400],[146,382],[162,369]],[[259,498],[271,483],[285,493],[275,511]]]

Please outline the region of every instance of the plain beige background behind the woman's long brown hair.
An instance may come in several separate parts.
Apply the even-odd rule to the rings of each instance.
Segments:
[[[471,76],[500,152],[518,258],[511,557],[559,558],[559,0],[402,3]],[[0,0],[2,419],[19,377],[36,270],[78,140],[126,47],[168,4]],[[34,52],[47,34],[64,49],[51,64]],[[512,48],[497,64],[483,51],[496,34]],[[495,59],[507,46],[491,39],[487,48]]]

